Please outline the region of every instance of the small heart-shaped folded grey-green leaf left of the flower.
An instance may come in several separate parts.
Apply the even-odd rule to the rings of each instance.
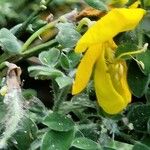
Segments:
[[[39,54],[39,60],[43,65],[54,67],[60,57],[60,51],[57,48],[52,48],[49,51],[43,51]]]

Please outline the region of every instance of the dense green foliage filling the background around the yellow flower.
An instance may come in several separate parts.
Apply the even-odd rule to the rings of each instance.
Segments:
[[[123,7],[133,2],[129,0]],[[97,104],[92,78],[83,92],[71,94],[82,58],[82,54],[74,52],[74,47],[97,18],[109,11],[111,4],[111,0],[0,1],[1,138],[7,128],[5,114],[14,109],[15,113],[8,115],[12,119],[19,116],[20,109],[23,111],[3,149],[150,149],[148,0],[141,0],[140,7],[147,13],[139,26],[115,37],[118,45],[115,56],[127,62],[127,80],[133,95],[126,110],[117,115],[106,114]],[[76,8],[82,11],[89,6],[92,9],[85,14],[76,12]],[[8,62],[22,70],[21,91],[9,93],[14,102],[21,103],[20,109],[18,103],[5,101],[7,91],[3,87],[7,85]],[[11,126],[8,124],[8,128]]]

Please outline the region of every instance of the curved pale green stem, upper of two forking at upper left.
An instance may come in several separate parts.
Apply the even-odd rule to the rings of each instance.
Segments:
[[[54,21],[54,22],[51,22],[45,26],[43,26],[42,28],[40,28],[38,31],[36,31],[34,34],[32,34],[29,39],[24,43],[24,45],[22,46],[22,49],[21,49],[21,53],[23,53],[24,51],[27,50],[27,48],[29,47],[29,45],[38,37],[40,36],[41,33],[43,33],[44,31],[46,31],[47,29],[50,29],[50,28],[53,28],[55,26],[55,24],[57,23],[58,21]]]

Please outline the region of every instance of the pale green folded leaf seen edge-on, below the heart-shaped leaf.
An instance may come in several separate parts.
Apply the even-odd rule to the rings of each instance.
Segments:
[[[31,77],[41,80],[55,79],[57,77],[64,76],[63,72],[59,71],[58,69],[47,66],[31,66],[28,67],[28,72]]]

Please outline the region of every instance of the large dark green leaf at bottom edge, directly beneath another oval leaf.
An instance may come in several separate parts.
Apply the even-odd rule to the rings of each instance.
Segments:
[[[69,150],[74,138],[74,130],[57,132],[50,130],[44,137],[41,150]]]

